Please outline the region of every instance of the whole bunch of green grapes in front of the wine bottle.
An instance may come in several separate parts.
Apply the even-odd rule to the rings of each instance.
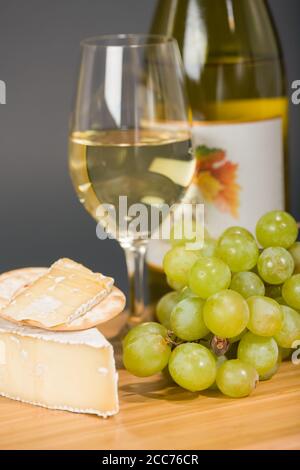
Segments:
[[[237,398],[270,379],[300,340],[297,237],[295,219],[272,211],[258,221],[256,239],[230,227],[218,240],[206,233],[199,251],[173,241],[163,267],[174,290],[157,305],[159,323],[125,337],[126,369],[147,377],[168,368],[186,390]]]

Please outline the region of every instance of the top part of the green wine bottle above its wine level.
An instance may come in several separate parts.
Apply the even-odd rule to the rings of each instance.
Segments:
[[[201,46],[207,60],[281,57],[265,0],[160,0],[152,30],[175,35],[182,51]]]

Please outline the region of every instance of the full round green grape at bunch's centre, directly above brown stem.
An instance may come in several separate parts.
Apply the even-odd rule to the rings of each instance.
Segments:
[[[249,308],[238,292],[222,290],[207,299],[203,315],[212,333],[220,338],[233,338],[246,328]]]

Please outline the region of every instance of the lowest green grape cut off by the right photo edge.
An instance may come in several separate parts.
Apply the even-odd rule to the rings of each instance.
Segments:
[[[282,305],[281,309],[283,324],[274,338],[282,348],[292,348],[294,341],[300,340],[300,314],[285,305]]]

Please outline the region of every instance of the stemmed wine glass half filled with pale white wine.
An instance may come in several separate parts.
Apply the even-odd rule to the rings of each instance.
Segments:
[[[131,324],[145,314],[145,253],[157,228],[150,219],[162,204],[181,201],[194,174],[189,116],[174,39],[122,34],[82,41],[70,172],[79,200],[102,224],[101,234],[104,226],[125,251]],[[136,204],[148,211],[148,226],[139,231]]]

